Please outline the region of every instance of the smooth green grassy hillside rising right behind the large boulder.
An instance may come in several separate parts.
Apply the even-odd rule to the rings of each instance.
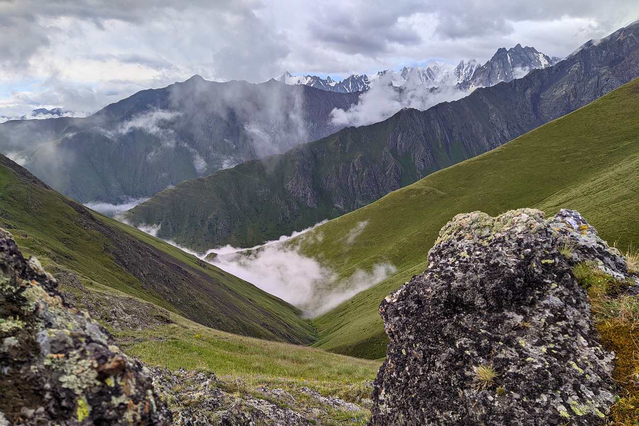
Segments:
[[[291,240],[346,277],[389,261],[398,272],[314,319],[316,346],[366,358],[385,356],[381,299],[426,268],[438,231],[458,213],[497,215],[534,207],[576,209],[625,249],[639,243],[639,80],[489,153],[435,172],[369,206]],[[352,245],[343,236],[359,222]],[[315,238],[318,235],[323,238]],[[344,261],[348,259],[348,261]]]

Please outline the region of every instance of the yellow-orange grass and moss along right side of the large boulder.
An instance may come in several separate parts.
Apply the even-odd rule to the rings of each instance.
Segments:
[[[636,254],[636,253],[635,253]],[[591,312],[606,351],[616,354],[612,377],[622,388],[610,407],[615,425],[639,424],[639,298],[623,293],[619,282],[592,264],[577,264],[573,275],[588,289]]]

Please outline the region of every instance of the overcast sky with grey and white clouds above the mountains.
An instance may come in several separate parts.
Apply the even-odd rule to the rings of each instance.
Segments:
[[[564,57],[637,19],[635,0],[0,0],[0,116],[89,114],[196,73],[346,77],[516,43]]]

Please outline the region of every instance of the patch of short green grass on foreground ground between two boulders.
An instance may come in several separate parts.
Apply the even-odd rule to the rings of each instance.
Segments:
[[[173,324],[144,330],[112,330],[131,356],[148,365],[214,372],[230,393],[250,393],[284,408],[285,402],[265,397],[260,386],[282,388],[295,396],[295,406],[313,409],[315,418],[326,425],[367,423],[368,409],[342,411],[320,404],[304,393],[309,387],[322,395],[339,397],[362,405],[370,398],[367,381],[372,381],[381,363],[362,360],[323,349],[254,339],[206,328],[171,315]],[[239,379],[239,380],[238,380]],[[312,419],[311,419],[312,420]]]

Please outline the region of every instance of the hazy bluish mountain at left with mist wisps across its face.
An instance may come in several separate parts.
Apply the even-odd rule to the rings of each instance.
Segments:
[[[329,135],[357,97],[196,75],[88,118],[8,121],[0,151],[73,199],[120,203]]]

